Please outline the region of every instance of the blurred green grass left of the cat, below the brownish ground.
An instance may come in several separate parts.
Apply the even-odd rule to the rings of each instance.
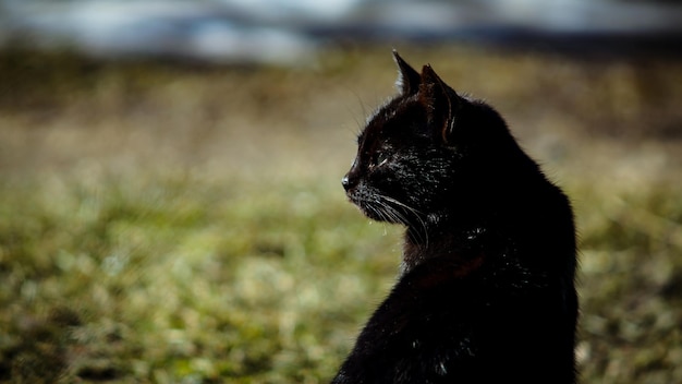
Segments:
[[[328,377],[397,239],[310,181],[146,178],[3,185],[3,379]]]

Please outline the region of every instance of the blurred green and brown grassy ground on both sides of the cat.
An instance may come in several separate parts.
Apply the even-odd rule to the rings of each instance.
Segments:
[[[403,55],[496,104],[573,199],[583,382],[682,382],[682,64]],[[339,183],[388,50],[297,71],[0,59],[0,382],[333,375],[401,251]]]

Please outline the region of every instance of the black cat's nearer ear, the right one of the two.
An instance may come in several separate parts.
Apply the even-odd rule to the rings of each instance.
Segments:
[[[455,111],[462,98],[436,74],[431,65],[424,65],[421,75],[419,101],[426,107],[429,125],[448,143],[455,123]]]

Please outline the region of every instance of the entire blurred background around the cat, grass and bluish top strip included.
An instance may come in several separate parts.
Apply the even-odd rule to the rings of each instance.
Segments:
[[[340,178],[395,48],[571,196],[584,383],[682,382],[682,3],[0,1],[0,382],[328,381],[401,228]]]

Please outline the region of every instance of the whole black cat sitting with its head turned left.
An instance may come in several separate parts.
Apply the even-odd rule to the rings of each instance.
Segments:
[[[575,383],[569,200],[490,106],[393,56],[342,183],[406,226],[402,272],[333,383]]]

